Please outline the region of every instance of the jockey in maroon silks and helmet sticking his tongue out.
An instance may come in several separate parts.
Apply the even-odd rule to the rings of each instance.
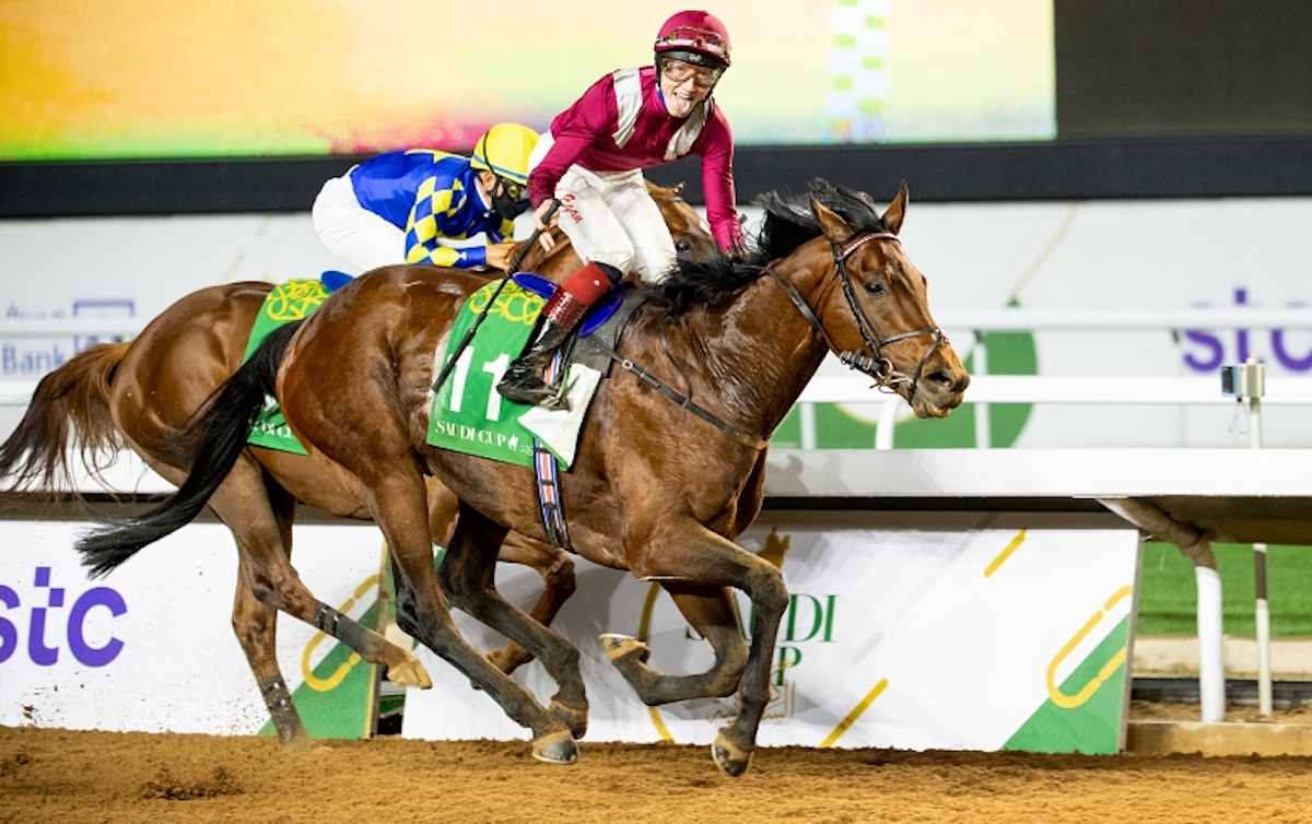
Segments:
[[[542,378],[555,350],[627,273],[652,283],[674,265],[674,244],[647,192],[644,168],[699,155],[711,234],[720,251],[743,245],[733,134],[711,100],[729,67],[728,31],[714,14],[680,12],[661,26],[655,50],[655,66],[606,75],[556,115],[538,140],[529,173],[534,224],[544,230],[552,199],[559,201],[554,222],[585,265],[547,300],[537,340],[497,384],[504,398],[568,408],[560,391]],[[541,237],[550,248],[550,234]]]

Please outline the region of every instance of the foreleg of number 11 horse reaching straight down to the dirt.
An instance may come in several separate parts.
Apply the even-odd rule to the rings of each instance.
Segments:
[[[750,764],[757,728],[770,701],[774,642],[789,605],[783,575],[770,562],[691,518],[660,525],[647,541],[635,542],[630,547],[630,569],[639,579],[733,587],[752,600],[756,621],[739,685],[739,714],[732,724],[720,728],[711,745],[716,766],[728,775],[741,775]]]

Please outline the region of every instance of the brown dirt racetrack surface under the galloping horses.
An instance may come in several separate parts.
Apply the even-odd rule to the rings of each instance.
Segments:
[[[775,748],[731,779],[703,747],[0,727],[0,821],[1312,821],[1312,758]]]

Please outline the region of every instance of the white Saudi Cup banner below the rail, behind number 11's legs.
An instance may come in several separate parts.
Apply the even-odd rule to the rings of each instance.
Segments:
[[[791,593],[774,652],[762,745],[1113,753],[1123,740],[1139,537],[1134,530],[876,531],[771,526],[739,542],[781,564]],[[728,699],[642,705],[606,661],[602,632],[648,640],[651,665],[710,667],[706,644],[657,585],[579,564],[554,628],[579,646],[592,741],[706,744]],[[499,571],[516,602],[537,580]],[[739,596],[744,623],[750,622]],[[458,615],[480,648],[501,639]],[[526,739],[426,649],[432,690],[409,690],[403,735]],[[541,664],[514,676],[543,701]]]

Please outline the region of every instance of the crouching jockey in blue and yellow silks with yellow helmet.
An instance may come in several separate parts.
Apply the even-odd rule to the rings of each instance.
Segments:
[[[527,207],[537,142],[531,129],[500,123],[471,157],[417,148],[371,157],[324,184],[315,231],[361,270],[403,262],[504,269],[513,245],[504,241]]]

